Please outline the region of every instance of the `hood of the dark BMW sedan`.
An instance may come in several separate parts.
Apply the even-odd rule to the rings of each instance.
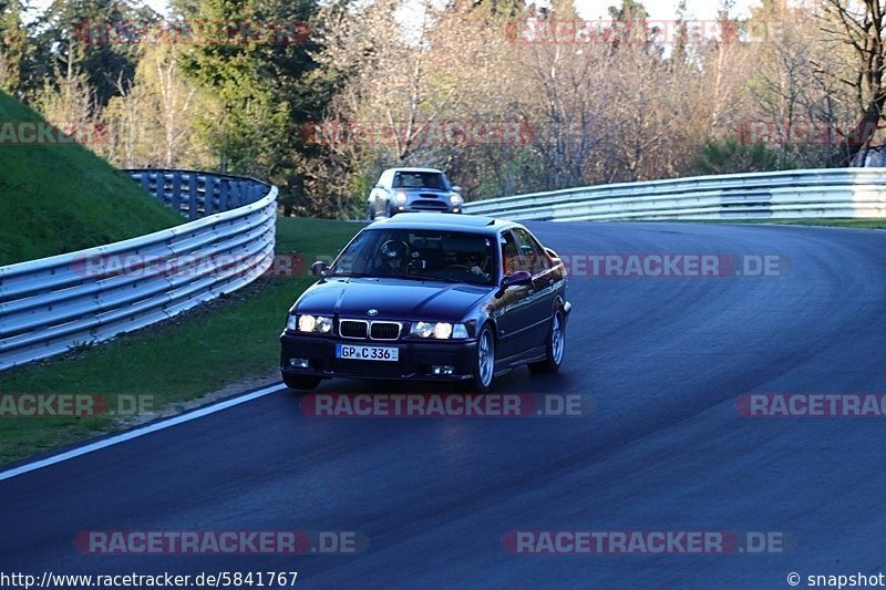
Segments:
[[[403,279],[330,278],[310,287],[296,302],[299,313],[379,320],[457,321],[492,287]],[[370,309],[379,310],[369,315]]]

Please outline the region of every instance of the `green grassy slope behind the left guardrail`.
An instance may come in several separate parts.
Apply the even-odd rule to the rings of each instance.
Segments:
[[[23,143],[37,124],[37,112],[0,92],[0,266],[184,222],[82,145]]]

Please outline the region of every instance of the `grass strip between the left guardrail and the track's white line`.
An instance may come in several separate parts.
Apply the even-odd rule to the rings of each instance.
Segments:
[[[276,251],[297,253],[308,263],[330,260],[361,228],[344,221],[278,218]],[[274,371],[286,311],[312,282],[303,273],[259,279],[161,325],[0,373],[0,394],[97,394],[112,410],[131,400],[154,411],[182,407],[233,381]],[[112,415],[0,414],[0,465],[125,426]]]

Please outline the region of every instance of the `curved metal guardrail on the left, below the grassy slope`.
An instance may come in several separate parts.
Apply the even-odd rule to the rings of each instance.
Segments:
[[[190,220],[0,267],[0,371],[166,320],[248,284],[272,263],[277,187],[202,172],[125,172]],[[136,262],[124,270],[124,260]]]

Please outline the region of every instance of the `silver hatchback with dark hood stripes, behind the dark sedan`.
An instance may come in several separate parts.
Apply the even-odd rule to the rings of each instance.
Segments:
[[[388,168],[369,194],[367,217],[399,213],[462,213],[461,187],[434,168]]]

